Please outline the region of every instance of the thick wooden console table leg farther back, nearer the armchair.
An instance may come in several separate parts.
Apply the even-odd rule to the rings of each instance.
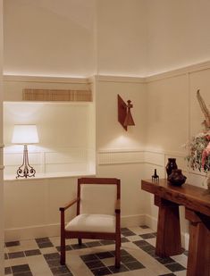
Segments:
[[[181,254],[179,205],[155,196],[159,207],[155,254],[161,257]]]

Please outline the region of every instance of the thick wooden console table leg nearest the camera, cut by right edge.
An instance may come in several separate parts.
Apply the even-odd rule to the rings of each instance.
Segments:
[[[209,217],[185,209],[189,220],[189,257],[187,276],[210,276],[210,221]]]

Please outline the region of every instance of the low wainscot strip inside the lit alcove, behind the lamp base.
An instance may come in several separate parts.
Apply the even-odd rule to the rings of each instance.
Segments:
[[[29,151],[29,164],[37,173],[80,172],[89,170],[89,152],[87,148],[58,147],[47,150],[36,147]],[[22,151],[13,151],[12,147],[4,149],[4,177],[16,175],[16,171],[22,163]]]

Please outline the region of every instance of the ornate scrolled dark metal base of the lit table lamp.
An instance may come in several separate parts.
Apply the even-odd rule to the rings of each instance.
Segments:
[[[34,177],[36,171],[33,167],[29,165],[29,155],[28,155],[28,147],[27,145],[24,145],[23,149],[23,161],[21,166],[17,170],[17,176],[16,179],[21,178],[28,178],[28,177]]]

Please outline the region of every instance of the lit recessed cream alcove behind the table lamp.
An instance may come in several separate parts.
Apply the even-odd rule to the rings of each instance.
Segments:
[[[22,163],[23,146],[11,142],[14,124],[37,125],[39,143],[29,146],[35,178],[95,174],[92,102],[4,102],[4,180],[15,180]]]

